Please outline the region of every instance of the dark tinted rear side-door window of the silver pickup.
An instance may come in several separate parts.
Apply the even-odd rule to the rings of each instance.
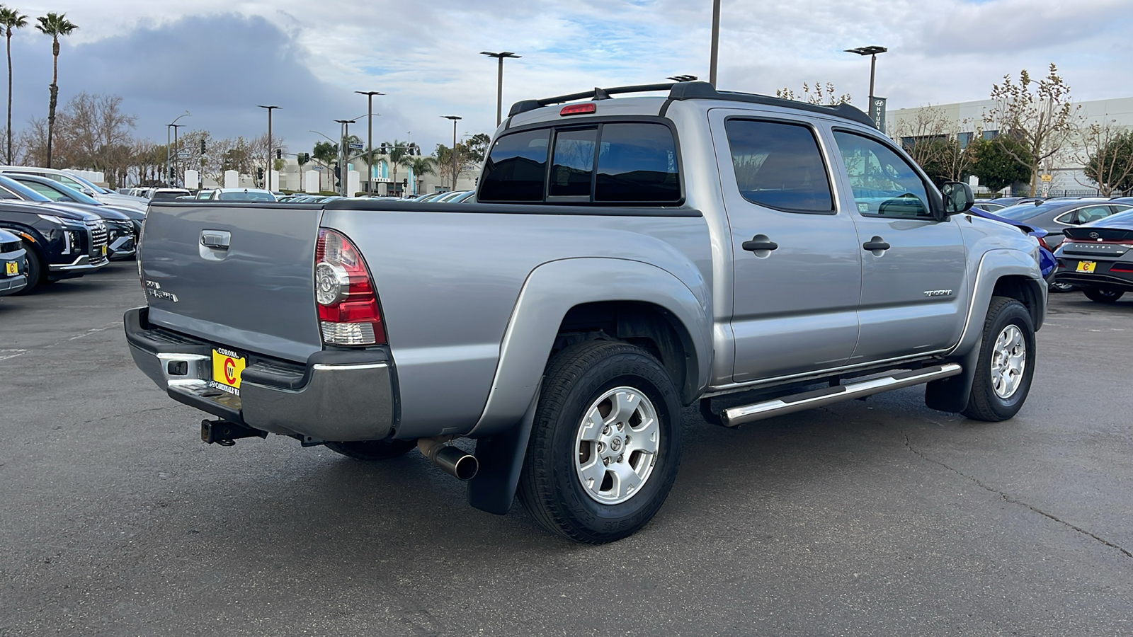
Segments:
[[[732,119],[725,129],[743,198],[786,211],[834,211],[826,164],[809,128]]]

